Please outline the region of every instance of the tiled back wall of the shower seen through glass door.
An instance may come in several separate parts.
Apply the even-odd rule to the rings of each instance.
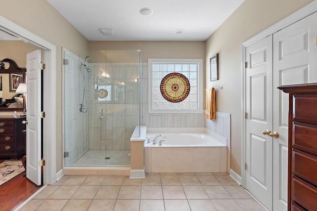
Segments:
[[[138,63],[90,63],[89,75],[89,149],[130,150],[130,138],[139,125],[139,64]],[[98,80],[106,72],[107,80],[124,83],[124,97],[112,102],[98,101]],[[112,88],[112,94],[114,88]],[[109,92],[110,94],[110,92]],[[100,109],[104,118],[100,119]]]

